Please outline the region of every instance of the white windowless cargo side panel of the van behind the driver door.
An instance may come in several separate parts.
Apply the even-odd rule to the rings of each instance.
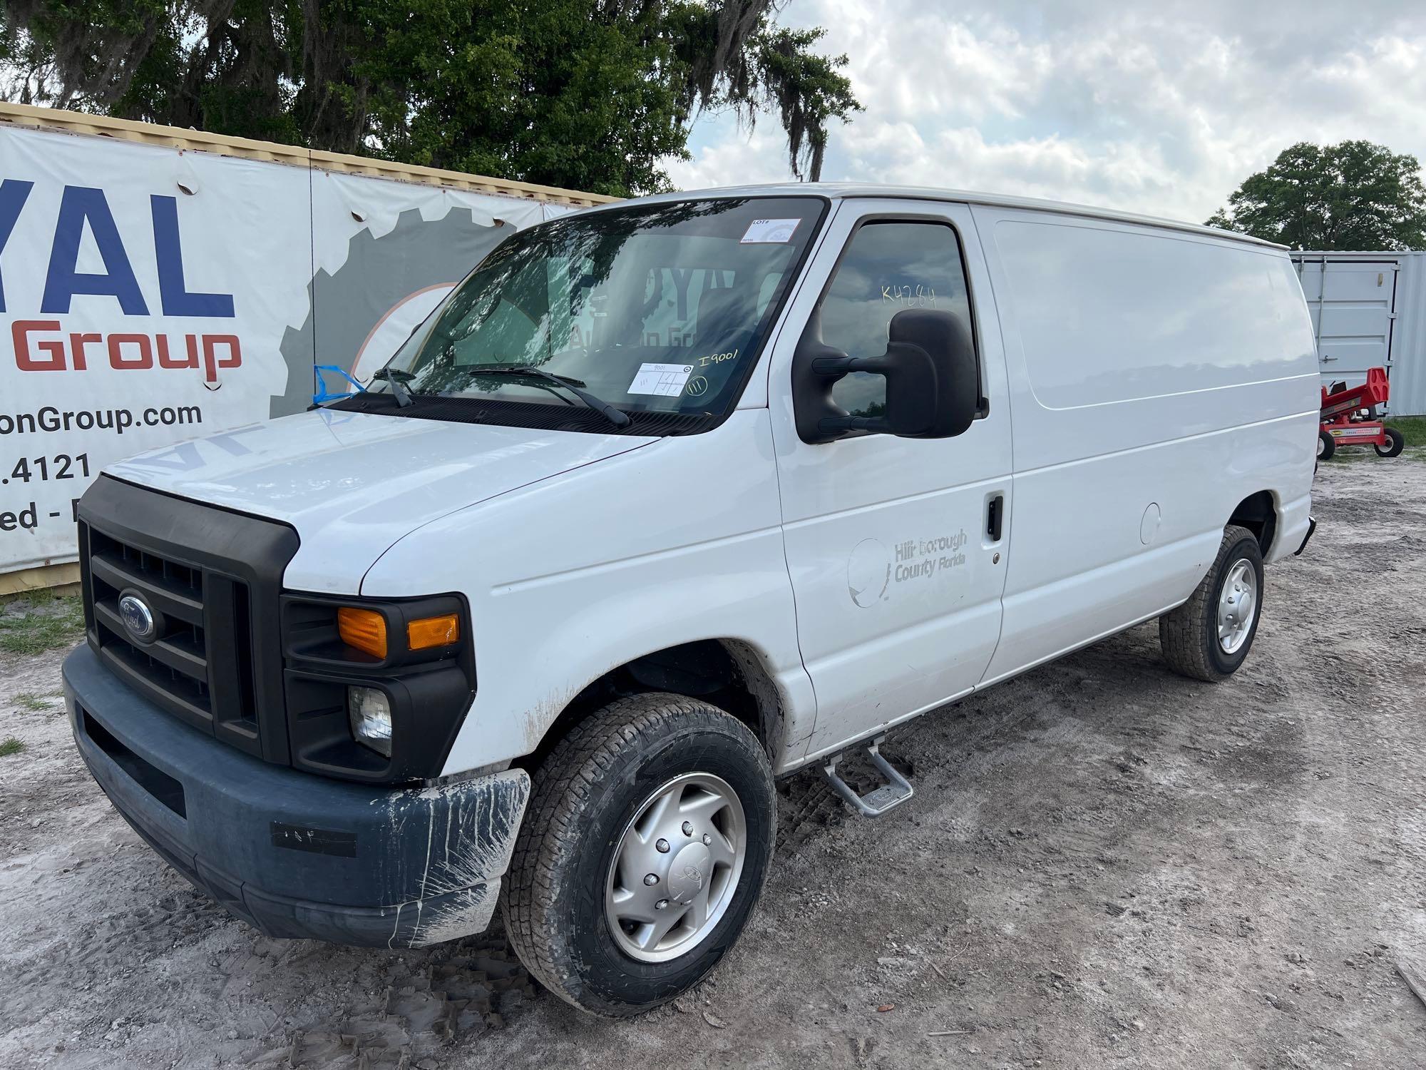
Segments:
[[[1192,593],[1268,491],[1275,559],[1308,525],[1312,325],[1286,253],[977,207],[1005,337],[1015,524],[985,682]]]

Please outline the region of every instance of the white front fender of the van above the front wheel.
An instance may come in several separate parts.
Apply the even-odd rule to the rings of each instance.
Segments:
[[[432,521],[371,568],[361,593],[471,601],[476,698],[448,775],[529,753],[606,671],[696,639],[757,653],[793,739],[816,706],[780,519],[767,409],[739,409],[706,434]]]

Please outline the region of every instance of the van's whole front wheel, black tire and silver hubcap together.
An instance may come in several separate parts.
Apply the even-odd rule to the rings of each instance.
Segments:
[[[700,982],[771,860],[773,775],[753,733],[706,702],[636,695],[576,725],[533,780],[503,890],[526,969],[607,1017]]]

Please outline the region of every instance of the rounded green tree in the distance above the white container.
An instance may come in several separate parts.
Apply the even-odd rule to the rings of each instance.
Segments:
[[[1370,141],[1299,141],[1208,220],[1310,250],[1426,248],[1426,187],[1415,156]]]

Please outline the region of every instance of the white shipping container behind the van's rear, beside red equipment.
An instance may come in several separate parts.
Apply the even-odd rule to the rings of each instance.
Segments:
[[[1426,253],[1293,253],[1323,385],[1386,368],[1386,411],[1426,414]]]

